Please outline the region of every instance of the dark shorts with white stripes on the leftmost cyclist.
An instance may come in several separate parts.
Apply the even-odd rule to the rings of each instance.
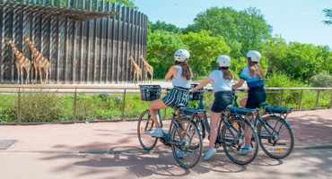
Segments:
[[[174,87],[170,90],[170,93],[166,97],[162,98],[162,102],[167,107],[173,107],[174,105],[184,104],[188,106],[189,101],[189,89]]]

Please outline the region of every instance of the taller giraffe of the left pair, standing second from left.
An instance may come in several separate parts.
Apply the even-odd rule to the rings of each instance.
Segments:
[[[35,71],[35,81],[37,81],[37,72],[39,72],[40,84],[42,84],[41,69],[43,69],[45,72],[45,82],[47,82],[48,70],[50,65],[48,59],[43,55],[41,55],[41,53],[36,49],[36,47],[33,46],[29,36],[24,36],[24,40],[29,43],[29,46],[31,48],[31,53],[33,55],[32,64],[33,64],[33,69]]]

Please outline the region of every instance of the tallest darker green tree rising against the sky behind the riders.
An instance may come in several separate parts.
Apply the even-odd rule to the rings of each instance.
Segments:
[[[264,15],[257,8],[250,7],[238,12],[232,7],[212,7],[198,13],[194,24],[184,32],[200,30],[212,31],[211,36],[214,37],[222,36],[232,49],[231,56],[238,59],[249,50],[262,51],[272,26],[266,23]]]

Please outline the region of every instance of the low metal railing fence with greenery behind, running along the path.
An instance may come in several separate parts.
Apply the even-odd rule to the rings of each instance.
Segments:
[[[136,120],[148,108],[138,87],[0,86],[0,124]],[[332,88],[266,88],[270,106],[307,110],[332,107]],[[238,94],[240,98],[245,93]],[[205,105],[214,95],[205,93]],[[191,101],[190,105],[195,101]],[[170,116],[171,110],[164,116]]]

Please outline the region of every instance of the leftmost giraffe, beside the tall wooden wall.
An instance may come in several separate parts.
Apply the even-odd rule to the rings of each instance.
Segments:
[[[27,79],[25,81],[25,84],[28,83],[28,79],[30,76],[30,69],[31,69],[31,61],[25,57],[18,49],[13,45],[13,41],[11,38],[7,38],[6,44],[12,47],[13,54],[15,55],[15,65],[18,73],[17,77],[17,84],[20,83],[20,76],[21,76],[21,84],[23,84],[23,68],[25,69],[25,72],[27,73]]]

